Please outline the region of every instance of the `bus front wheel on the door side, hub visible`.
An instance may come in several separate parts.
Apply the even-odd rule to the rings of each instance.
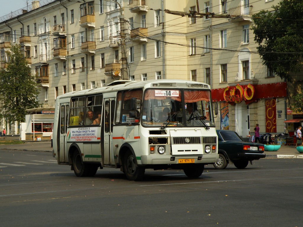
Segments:
[[[136,157],[131,151],[128,151],[124,156],[123,170],[128,180],[139,181],[144,177],[145,169],[137,166]]]

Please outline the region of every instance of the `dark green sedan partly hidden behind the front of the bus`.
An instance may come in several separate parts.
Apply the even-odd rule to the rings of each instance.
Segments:
[[[238,169],[244,169],[248,161],[265,158],[264,145],[243,141],[231,130],[217,130],[219,160],[214,164],[216,169],[225,169],[228,163],[234,163]]]

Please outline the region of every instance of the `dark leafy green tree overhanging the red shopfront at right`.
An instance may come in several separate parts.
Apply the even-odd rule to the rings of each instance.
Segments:
[[[263,64],[291,81],[290,73],[298,73],[302,67],[303,2],[282,0],[272,8],[274,12],[262,10],[253,15],[254,40]]]

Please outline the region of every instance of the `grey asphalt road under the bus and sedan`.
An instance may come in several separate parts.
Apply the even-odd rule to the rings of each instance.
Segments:
[[[49,152],[0,150],[0,226],[303,226],[302,159],[262,159],[246,169],[119,169],[76,177]]]

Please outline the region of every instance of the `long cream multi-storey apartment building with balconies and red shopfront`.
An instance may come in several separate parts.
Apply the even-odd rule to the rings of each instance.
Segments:
[[[1,67],[5,51],[20,44],[39,77],[42,107],[118,79],[205,82],[219,104],[218,128],[246,137],[258,123],[261,132],[282,133],[287,83],[262,65],[251,31],[251,15],[278,2],[33,1],[0,18]]]

